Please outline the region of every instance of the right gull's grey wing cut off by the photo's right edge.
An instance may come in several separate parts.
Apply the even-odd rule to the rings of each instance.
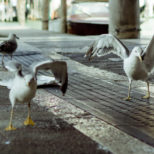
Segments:
[[[154,67],[154,35],[142,54],[143,62],[149,72]]]

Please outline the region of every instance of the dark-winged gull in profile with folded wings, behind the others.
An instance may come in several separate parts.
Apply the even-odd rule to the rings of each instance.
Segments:
[[[6,54],[10,55],[12,59],[12,55],[18,47],[16,39],[19,39],[19,37],[17,37],[16,34],[10,33],[8,36],[8,40],[5,40],[0,44],[0,53],[3,54],[2,66],[4,66],[3,59]]]

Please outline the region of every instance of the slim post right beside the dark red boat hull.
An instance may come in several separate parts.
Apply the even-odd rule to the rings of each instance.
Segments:
[[[66,0],[61,0],[61,33],[67,32],[67,4]]]

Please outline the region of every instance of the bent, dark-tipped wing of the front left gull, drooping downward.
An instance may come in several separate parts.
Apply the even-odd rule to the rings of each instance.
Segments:
[[[67,63],[64,61],[47,60],[35,62],[31,65],[33,73],[36,75],[38,70],[51,70],[54,77],[61,85],[63,95],[66,93],[68,86]]]

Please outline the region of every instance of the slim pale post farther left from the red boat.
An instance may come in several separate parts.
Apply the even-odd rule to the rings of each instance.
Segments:
[[[49,24],[49,0],[43,0],[42,8],[42,29],[48,30]]]

